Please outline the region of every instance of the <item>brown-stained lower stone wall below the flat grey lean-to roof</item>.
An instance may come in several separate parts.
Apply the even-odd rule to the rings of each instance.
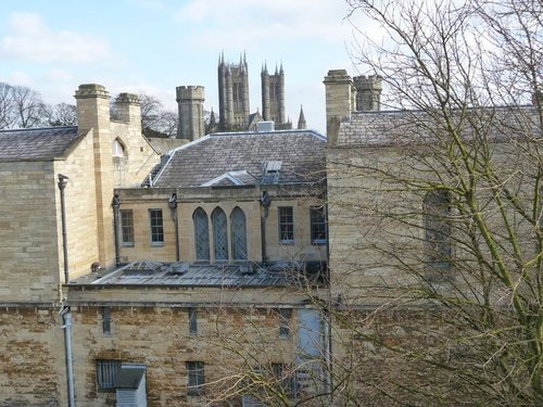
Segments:
[[[148,406],[202,406],[244,371],[272,363],[292,364],[294,336],[279,338],[273,309],[197,308],[198,333],[189,332],[187,308],[111,307],[104,334],[99,307],[74,311],[76,398],[85,406],[114,406],[114,393],[97,390],[96,360],[144,364]],[[294,320],[292,321],[294,325]],[[204,363],[201,396],[187,394],[186,361]],[[239,395],[232,397],[240,402]]]

